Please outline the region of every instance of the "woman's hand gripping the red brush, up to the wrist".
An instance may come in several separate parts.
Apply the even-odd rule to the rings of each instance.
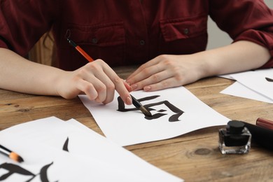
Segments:
[[[90,100],[108,104],[113,101],[115,90],[125,104],[132,104],[130,85],[102,59],[90,62],[76,71],[64,71],[56,82],[57,94],[66,99],[84,93]]]

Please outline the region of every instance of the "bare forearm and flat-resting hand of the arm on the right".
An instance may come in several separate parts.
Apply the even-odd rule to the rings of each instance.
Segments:
[[[126,81],[132,90],[162,90],[208,76],[257,69],[270,57],[269,50],[262,45],[237,41],[192,55],[160,55],[141,65]]]

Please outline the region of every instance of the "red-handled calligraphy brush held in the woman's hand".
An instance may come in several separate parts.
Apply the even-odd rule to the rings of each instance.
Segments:
[[[82,48],[80,48],[79,45],[77,45],[74,41],[72,41],[70,38],[66,38],[67,41],[74,47],[76,48],[76,50],[78,50],[78,52],[80,52],[81,55],[83,55],[83,57],[85,57],[85,59],[87,59],[87,61],[89,62],[93,62],[94,59],[92,59],[92,57],[90,57],[90,55],[88,55]],[[132,94],[130,94],[132,97],[132,103],[134,104],[134,106],[139,109],[142,113],[144,113],[145,116],[152,116],[151,112],[148,111],[148,109],[146,109],[144,106],[142,106],[142,104],[132,96]]]

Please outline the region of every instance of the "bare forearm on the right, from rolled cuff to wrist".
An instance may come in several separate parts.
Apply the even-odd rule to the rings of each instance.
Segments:
[[[200,64],[202,78],[257,69],[271,57],[267,48],[249,41],[238,41],[223,48],[199,52],[196,56],[204,61]]]

